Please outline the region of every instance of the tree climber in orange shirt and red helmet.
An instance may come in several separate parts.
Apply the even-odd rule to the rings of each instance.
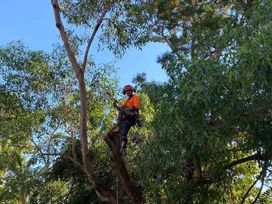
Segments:
[[[140,99],[133,92],[136,92],[136,90],[132,86],[126,85],[123,87],[123,94],[126,94],[128,99],[121,106],[118,106],[116,101],[112,104],[119,111],[117,126],[120,129],[120,152],[123,156],[125,156],[126,145],[128,143],[128,131],[130,131],[131,126],[135,125],[137,119],[139,119]]]

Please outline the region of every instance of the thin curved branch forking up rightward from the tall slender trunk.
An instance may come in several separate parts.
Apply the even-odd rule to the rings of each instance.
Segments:
[[[84,60],[83,60],[83,65],[82,65],[82,71],[84,73],[85,68],[86,68],[86,64],[87,64],[87,58],[88,58],[88,52],[90,50],[90,45],[93,43],[93,38],[95,38],[95,34],[97,33],[98,29],[100,28],[100,25],[102,23],[102,20],[104,18],[104,16],[106,15],[106,13],[108,12],[109,8],[111,8],[112,5],[114,5],[114,3],[116,3],[117,0],[111,1],[105,8],[105,10],[102,12],[100,19],[98,20],[97,24],[95,25],[95,29],[93,30],[93,34],[92,36],[90,36],[90,39],[88,41],[88,45],[85,51],[85,55],[84,55]]]

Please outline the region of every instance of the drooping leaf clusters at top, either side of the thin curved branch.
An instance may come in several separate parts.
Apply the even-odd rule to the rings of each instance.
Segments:
[[[103,11],[110,3],[96,0],[60,1],[62,15],[71,26],[69,35],[74,36],[72,39],[79,40],[81,45],[88,43],[90,31],[95,31]],[[111,6],[100,24],[97,35],[99,43],[95,45],[98,50],[108,48],[116,57],[122,57],[128,48],[142,48],[147,43],[149,35],[142,31],[145,21],[136,18],[141,12],[137,5],[138,1],[116,1]],[[76,31],[79,28],[80,33]]]

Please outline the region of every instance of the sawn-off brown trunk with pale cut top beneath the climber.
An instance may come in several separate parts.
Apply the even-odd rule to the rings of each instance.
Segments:
[[[144,203],[143,198],[140,192],[137,190],[134,184],[132,184],[130,180],[130,176],[128,175],[128,170],[125,167],[125,163],[123,158],[119,152],[119,135],[118,135],[118,127],[111,126],[109,132],[104,133],[102,138],[107,143],[111,150],[111,163],[114,164],[116,168],[116,172],[118,177],[121,180],[121,184],[123,185],[123,189],[131,198],[133,203]]]

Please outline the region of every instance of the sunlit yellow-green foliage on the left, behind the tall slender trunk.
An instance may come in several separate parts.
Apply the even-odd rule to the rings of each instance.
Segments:
[[[69,187],[74,188],[75,184],[72,181],[67,183],[64,180],[62,182],[50,180],[48,173],[51,166],[58,161],[56,160],[58,156],[62,155],[67,159],[69,158],[67,156],[72,154],[72,148],[66,152],[62,148],[79,138],[79,94],[74,73],[69,68],[69,61],[60,45],[56,45],[55,50],[48,54],[28,50],[22,42],[13,42],[1,47],[0,53],[0,72],[3,79],[0,101],[1,170],[3,170],[1,181],[4,184],[2,195],[10,201],[12,198],[14,201],[20,200],[22,198],[18,197],[19,191],[6,189],[8,186],[17,186],[11,182],[18,180],[25,182],[23,179],[29,182],[39,180],[38,186],[43,189],[43,196],[37,191],[38,186],[29,187],[31,190],[22,187],[27,191],[22,194],[25,202],[47,203],[49,200],[61,202],[69,194]],[[114,68],[111,64],[98,65],[92,72],[86,73],[90,100],[88,105],[90,146],[94,152],[98,150],[104,155],[107,155],[107,149],[100,136],[108,129],[113,119],[113,115],[109,114],[111,99],[104,90],[107,89],[109,93],[115,92],[116,81],[111,78],[112,73]],[[97,149],[99,145],[102,148]],[[11,173],[11,170],[15,170],[8,165],[8,160],[16,162],[11,157],[13,154],[18,161],[24,161],[20,162],[18,168],[25,169],[23,165],[27,165],[28,174],[25,170],[20,175],[17,175],[19,172]],[[97,159],[101,158],[100,153],[95,154],[98,154]],[[81,156],[78,155],[78,158]],[[15,168],[16,165],[13,166]],[[39,176],[34,179],[37,171]],[[22,176],[22,179],[18,176]],[[54,196],[46,193],[48,187],[55,188]],[[61,189],[62,193],[59,192]],[[6,194],[6,191],[9,193]]]

